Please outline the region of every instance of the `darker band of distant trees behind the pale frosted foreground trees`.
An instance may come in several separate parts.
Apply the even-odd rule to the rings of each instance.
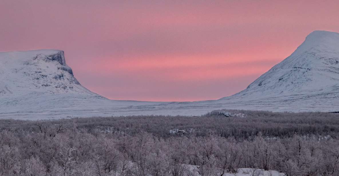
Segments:
[[[206,136],[212,130],[222,137],[251,139],[260,132],[265,137],[300,136],[332,137],[339,136],[339,114],[325,112],[273,113],[266,111],[224,110],[244,113],[245,117],[225,117],[219,111],[203,116],[129,116],[129,117],[92,117],[40,121],[40,124],[62,124],[67,128],[86,129],[89,133],[96,130],[138,134],[141,131],[152,133],[156,137],[168,138],[171,129],[193,129],[193,135]],[[24,120],[0,120],[0,130],[25,130],[37,132],[36,123]],[[178,135],[178,134],[176,134]],[[192,135],[185,133],[184,135]]]

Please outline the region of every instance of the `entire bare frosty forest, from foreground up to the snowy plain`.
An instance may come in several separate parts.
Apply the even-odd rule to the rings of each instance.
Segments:
[[[0,175],[339,176],[338,113],[222,111],[245,115],[2,119]]]

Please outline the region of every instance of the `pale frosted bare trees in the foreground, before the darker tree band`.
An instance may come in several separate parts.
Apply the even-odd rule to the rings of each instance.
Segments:
[[[73,123],[72,123],[73,124]],[[238,168],[339,176],[339,140],[133,135],[36,124],[0,132],[1,176],[224,176]],[[195,171],[191,165],[198,166]],[[260,173],[253,169],[252,175]]]

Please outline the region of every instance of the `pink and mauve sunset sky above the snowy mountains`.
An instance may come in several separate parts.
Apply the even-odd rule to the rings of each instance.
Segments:
[[[1,0],[0,52],[65,51],[79,82],[114,100],[215,100],[245,89],[339,1]],[[1,69],[1,68],[0,68]]]

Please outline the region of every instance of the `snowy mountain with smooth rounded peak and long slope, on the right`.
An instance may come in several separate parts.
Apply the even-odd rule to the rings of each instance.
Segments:
[[[231,97],[336,98],[338,92],[339,34],[314,31],[291,56]]]

